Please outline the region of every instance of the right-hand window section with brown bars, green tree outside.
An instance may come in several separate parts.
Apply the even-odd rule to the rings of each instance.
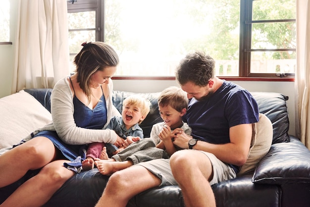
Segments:
[[[242,0],[241,8],[241,76],[294,77],[296,1]]]

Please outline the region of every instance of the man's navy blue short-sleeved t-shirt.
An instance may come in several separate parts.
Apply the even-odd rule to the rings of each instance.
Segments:
[[[225,144],[230,142],[230,127],[258,122],[258,104],[247,90],[224,80],[207,100],[193,98],[183,118],[193,138]]]

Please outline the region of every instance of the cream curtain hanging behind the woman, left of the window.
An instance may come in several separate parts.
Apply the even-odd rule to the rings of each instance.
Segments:
[[[66,0],[18,0],[12,93],[69,74]]]

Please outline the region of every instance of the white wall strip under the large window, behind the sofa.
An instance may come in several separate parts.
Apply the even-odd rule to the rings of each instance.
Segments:
[[[289,111],[290,129],[289,134],[295,135],[295,92],[294,82],[279,81],[233,81],[250,92],[276,92],[289,97],[287,101]],[[114,90],[129,91],[136,93],[160,92],[169,86],[178,86],[176,81],[171,80],[113,80]]]

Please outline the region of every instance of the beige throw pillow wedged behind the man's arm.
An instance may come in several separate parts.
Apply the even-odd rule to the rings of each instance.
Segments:
[[[249,156],[241,166],[238,176],[253,173],[260,159],[270,150],[273,136],[272,123],[262,113],[259,113],[259,121],[253,124],[252,140]]]

